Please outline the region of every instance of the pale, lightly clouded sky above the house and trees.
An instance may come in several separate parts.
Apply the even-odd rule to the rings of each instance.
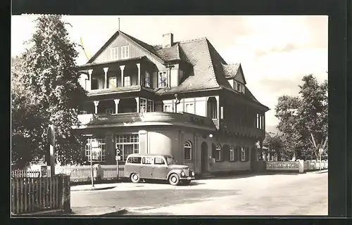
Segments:
[[[11,56],[25,50],[35,31],[37,15],[11,16]],[[161,44],[162,35],[174,41],[206,37],[227,64],[241,63],[246,86],[270,110],[267,129],[278,124],[277,98],[298,95],[304,75],[327,79],[327,21],[325,15],[65,15],[70,39],[92,56],[118,30],[147,44]],[[77,64],[87,63],[77,49]]]

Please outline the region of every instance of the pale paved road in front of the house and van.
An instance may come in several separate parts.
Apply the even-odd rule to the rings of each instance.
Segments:
[[[176,187],[122,183],[73,191],[71,206],[124,207],[130,215],[327,215],[327,173],[232,176]]]

